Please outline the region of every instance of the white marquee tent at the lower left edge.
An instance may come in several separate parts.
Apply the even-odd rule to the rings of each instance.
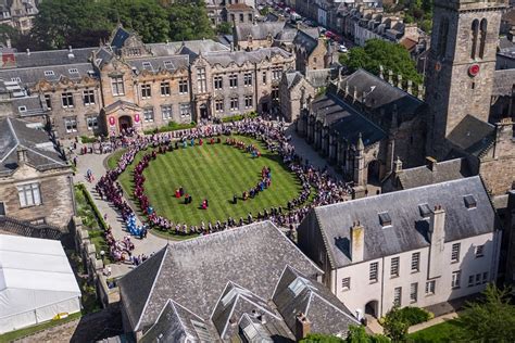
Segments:
[[[80,310],[60,241],[0,234],[0,333]]]

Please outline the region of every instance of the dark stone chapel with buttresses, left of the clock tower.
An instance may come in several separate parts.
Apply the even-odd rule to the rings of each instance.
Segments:
[[[424,111],[422,100],[359,69],[315,98],[297,128],[365,194],[393,170],[394,156],[406,166],[424,162]]]

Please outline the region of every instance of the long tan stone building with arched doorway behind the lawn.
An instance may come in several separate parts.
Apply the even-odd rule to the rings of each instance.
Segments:
[[[99,48],[27,51],[13,61],[0,69],[0,79],[39,101],[39,118],[60,138],[271,112],[282,72],[294,67],[294,55],[277,47],[231,51],[212,40],[145,45],[123,27]]]

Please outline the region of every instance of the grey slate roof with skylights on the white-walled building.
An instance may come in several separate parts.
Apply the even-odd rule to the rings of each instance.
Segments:
[[[465,207],[464,196],[469,194],[477,201],[476,208]],[[479,176],[316,207],[312,215],[332,268],[342,268],[352,264],[350,228],[356,220],[364,227],[364,261],[429,246],[429,220],[420,215],[422,204],[429,208],[441,205],[445,211],[445,242],[500,229]],[[378,214],[385,212],[392,221],[384,228]]]

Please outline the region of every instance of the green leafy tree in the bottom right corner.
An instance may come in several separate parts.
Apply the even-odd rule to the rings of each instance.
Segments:
[[[515,306],[510,302],[511,289],[488,284],[482,300],[467,303],[455,319],[461,340],[466,342],[513,342]]]

